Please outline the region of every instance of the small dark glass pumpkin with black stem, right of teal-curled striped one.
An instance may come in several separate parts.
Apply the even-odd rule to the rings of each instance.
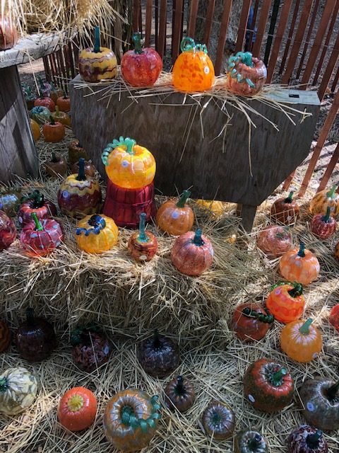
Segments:
[[[172,411],[176,408],[179,412],[188,411],[196,399],[194,386],[182,376],[175,377],[165,387],[166,404]]]

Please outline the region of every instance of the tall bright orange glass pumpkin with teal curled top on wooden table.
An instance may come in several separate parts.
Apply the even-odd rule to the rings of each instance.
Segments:
[[[214,84],[214,67],[206,45],[184,38],[173,67],[173,85],[180,91],[206,91]]]

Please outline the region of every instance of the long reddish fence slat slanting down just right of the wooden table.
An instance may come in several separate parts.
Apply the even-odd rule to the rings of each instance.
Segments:
[[[299,197],[302,197],[307,190],[309,185],[309,180],[311,179],[312,173],[314,172],[314,168],[316,168],[316,163],[319,159],[321,149],[323,149],[323,145],[327,139],[328,133],[331,130],[333,122],[335,120],[335,116],[337,115],[339,109],[339,90],[335,94],[335,98],[333,99],[333,104],[331,105],[331,109],[328,112],[325,122],[323,123],[323,127],[320,131],[318,142],[316,142],[316,147],[314,148],[311,160],[309,161],[309,166],[307,167],[307,171],[305,173],[304,179],[302,180],[302,186],[299,190]]]

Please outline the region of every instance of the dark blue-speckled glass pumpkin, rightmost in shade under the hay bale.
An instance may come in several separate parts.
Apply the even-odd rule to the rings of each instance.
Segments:
[[[150,376],[164,379],[179,366],[179,346],[157,331],[138,345],[138,361]]]

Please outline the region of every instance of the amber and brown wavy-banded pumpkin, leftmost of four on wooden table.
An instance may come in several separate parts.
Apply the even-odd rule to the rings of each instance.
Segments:
[[[113,50],[100,47],[99,27],[95,27],[94,48],[81,50],[78,67],[81,77],[86,82],[99,82],[117,76],[117,57]]]

